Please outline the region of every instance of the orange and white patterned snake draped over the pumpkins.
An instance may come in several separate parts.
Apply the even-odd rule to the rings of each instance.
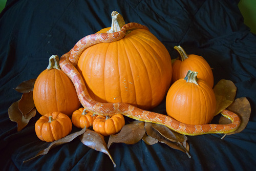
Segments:
[[[225,134],[238,129],[240,126],[239,116],[228,110],[223,110],[221,114],[232,121],[230,124],[191,125],[181,123],[163,114],[136,108],[135,106],[127,103],[101,103],[92,99],[88,93],[86,84],[76,69],[76,65],[81,53],[92,45],[101,42],[113,42],[120,40],[125,36],[126,30],[131,28],[147,29],[147,27],[143,25],[129,23],[124,25],[118,32],[91,34],[80,39],[68,53],[61,56],[60,68],[74,83],[78,98],[85,109],[97,115],[112,115],[121,113],[136,120],[165,125],[170,130],[184,135],[202,135],[210,133]]]

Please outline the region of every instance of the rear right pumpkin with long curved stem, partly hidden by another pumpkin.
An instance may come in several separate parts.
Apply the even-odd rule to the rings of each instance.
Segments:
[[[180,59],[173,62],[172,83],[184,78],[189,70],[198,72],[198,78],[203,79],[212,88],[214,87],[214,75],[207,61],[199,55],[187,55],[181,46],[175,46],[180,54]]]

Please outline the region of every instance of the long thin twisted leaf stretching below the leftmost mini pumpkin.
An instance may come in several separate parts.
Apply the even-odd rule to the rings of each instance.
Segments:
[[[61,144],[65,144],[67,142],[71,142],[73,139],[75,139],[76,137],[78,137],[79,135],[83,134],[84,132],[86,131],[86,127],[84,127],[84,129],[82,129],[81,131],[79,132],[75,132],[73,134],[70,134],[66,137],[63,137],[59,140],[56,140],[56,141],[53,141],[46,149],[43,149],[42,151],[40,151],[39,153],[37,153],[34,157],[28,159],[28,160],[25,160],[23,161],[23,163],[25,162],[28,162],[40,155],[46,155],[52,148],[58,146],[58,145],[61,145]]]

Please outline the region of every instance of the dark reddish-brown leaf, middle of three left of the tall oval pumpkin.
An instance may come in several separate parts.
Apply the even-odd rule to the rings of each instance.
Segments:
[[[33,100],[33,91],[23,93],[22,98],[18,102],[18,109],[22,112],[23,116],[26,115],[35,107]]]

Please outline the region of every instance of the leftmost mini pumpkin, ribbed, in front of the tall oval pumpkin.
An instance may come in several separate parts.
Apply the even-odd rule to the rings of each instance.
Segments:
[[[60,112],[41,116],[35,123],[37,137],[46,142],[53,142],[67,136],[72,130],[70,118]]]

